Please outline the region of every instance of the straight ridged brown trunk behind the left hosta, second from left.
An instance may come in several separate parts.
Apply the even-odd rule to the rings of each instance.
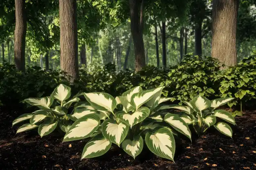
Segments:
[[[70,82],[79,77],[76,0],[59,0],[61,29],[61,69],[71,76]]]

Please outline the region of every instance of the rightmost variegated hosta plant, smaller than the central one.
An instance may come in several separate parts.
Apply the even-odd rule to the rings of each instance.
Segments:
[[[214,126],[222,134],[232,138],[232,129],[227,123],[235,125],[234,117],[226,110],[216,109],[233,99],[225,97],[210,101],[206,97],[198,95],[190,102],[184,102],[187,106],[170,105],[159,109],[176,108],[182,110],[182,112],[179,112],[180,117],[187,124],[192,124],[198,135]],[[223,120],[227,123],[222,122]]]

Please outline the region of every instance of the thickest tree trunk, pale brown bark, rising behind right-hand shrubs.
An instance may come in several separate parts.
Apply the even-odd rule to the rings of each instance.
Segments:
[[[213,0],[211,56],[226,66],[237,64],[238,0]]]

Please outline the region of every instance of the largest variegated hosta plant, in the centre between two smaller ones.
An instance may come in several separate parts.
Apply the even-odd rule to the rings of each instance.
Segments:
[[[137,86],[116,98],[107,93],[84,93],[90,106],[77,106],[81,113],[71,115],[78,119],[67,131],[63,141],[92,137],[83,149],[82,159],[101,156],[112,144],[121,147],[135,159],[141,153],[145,141],[155,155],[173,160],[174,129],[190,139],[191,132],[177,115],[166,116],[162,120],[166,121],[164,125],[157,123],[161,115],[157,115],[155,108],[171,99],[161,97],[163,88],[159,86],[142,91]]]

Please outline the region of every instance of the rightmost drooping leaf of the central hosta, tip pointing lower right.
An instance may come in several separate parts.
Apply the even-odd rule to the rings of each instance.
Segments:
[[[188,137],[191,140],[191,131],[189,130],[189,126],[178,115],[167,113],[164,116],[164,121],[166,121],[175,130],[184,134],[186,137]]]

